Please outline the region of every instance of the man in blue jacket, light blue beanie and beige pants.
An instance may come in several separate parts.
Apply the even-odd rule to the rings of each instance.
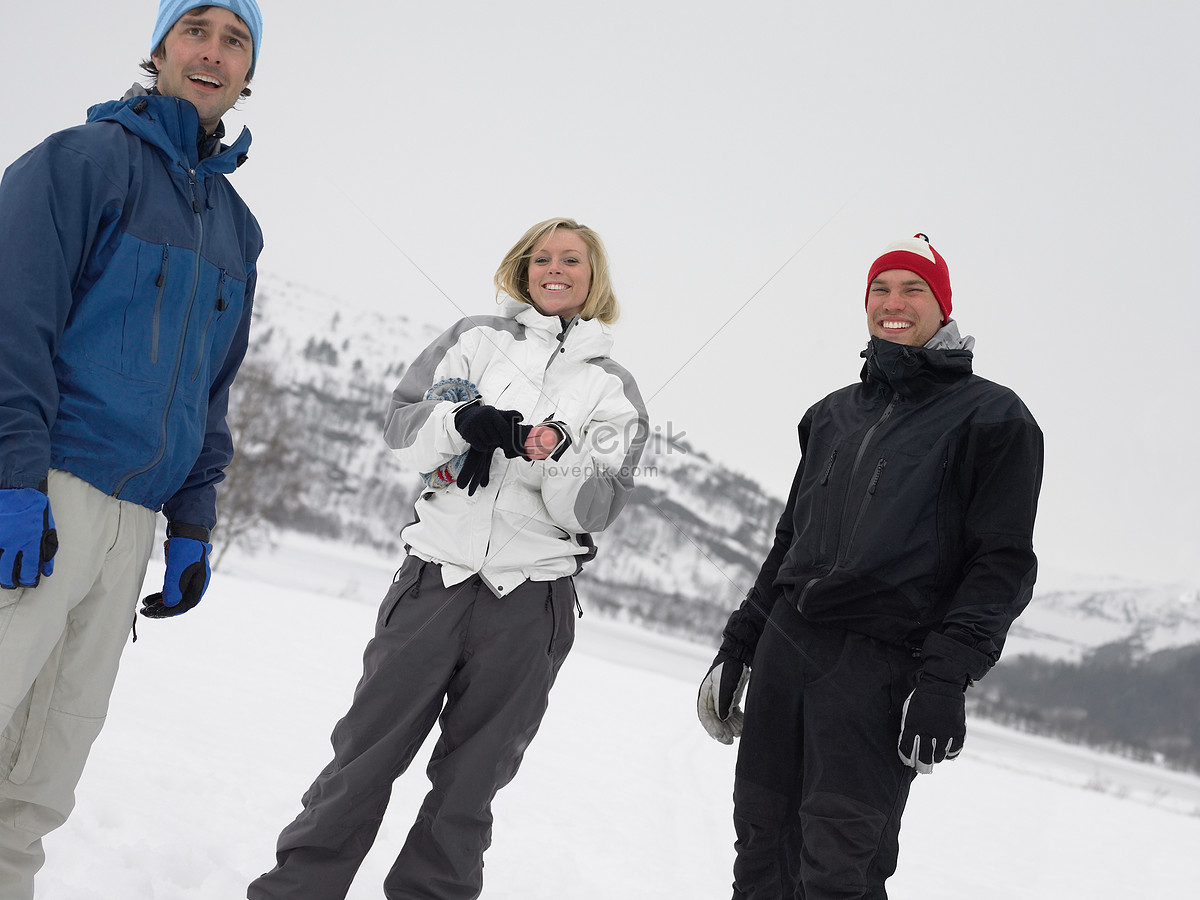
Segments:
[[[155,532],[150,617],[209,578],[258,223],[226,180],[250,133],[254,0],[162,0],[155,86],[101,103],[0,181],[0,896],[29,900],[100,732]]]

